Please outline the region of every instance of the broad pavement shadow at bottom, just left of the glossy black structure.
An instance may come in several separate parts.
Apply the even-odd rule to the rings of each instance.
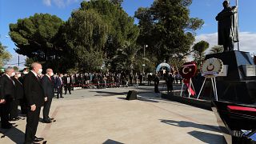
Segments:
[[[220,142],[222,143],[226,143],[225,138],[222,135],[218,135],[218,134],[210,134],[210,133],[205,133],[202,131],[190,131],[188,132],[188,134],[192,135],[194,138],[199,139],[202,142],[205,143],[210,143],[210,144],[219,144]],[[214,142],[214,140],[218,140],[218,142]]]

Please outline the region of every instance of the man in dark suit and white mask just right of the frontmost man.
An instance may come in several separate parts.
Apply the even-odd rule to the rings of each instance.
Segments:
[[[42,88],[44,90],[45,97],[47,97],[47,101],[44,103],[43,106],[43,122],[50,123],[51,119],[49,117],[50,112],[50,104],[52,99],[54,98],[54,75],[53,70],[47,69],[46,74],[42,77],[41,83]]]

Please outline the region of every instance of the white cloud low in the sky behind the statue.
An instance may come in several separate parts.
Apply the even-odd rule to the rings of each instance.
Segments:
[[[256,54],[256,33],[251,33],[251,32],[240,32],[240,51],[246,51],[250,52],[250,54]],[[210,48],[212,46],[218,45],[218,34],[213,33],[213,34],[200,34],[196,36],[196,42],[199,41],[206,41],[209,42]],[[235,43],[234,50],[238,50],[238,45]],[[206,53],[208,50],[206,50]]]

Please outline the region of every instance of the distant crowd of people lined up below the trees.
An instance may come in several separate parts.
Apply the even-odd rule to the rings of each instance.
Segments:
[[[167,73],[166,73],[167,74]],[[170,73],[171,77],[174,79],[172,82],[182,83],[182,78],[178,73]],[[124,72],[121,73],[84,73],[84,74],[65,74],[64,77],[62,74],[54,74],[53,78],[55,81],[55,89],[58,91],[58,87],[60,86],[59,77],[63,79],[65,85],[65,94],[67,90],[72,90],[74,87],[82,87],[82,88],[111,88],[111,87],[128,87],[128,86],[140,86],[144,85],[142,81],[147,81],[148,86],[151,85],[151,82],[154,82],[157,74],[126,74]],[[159,74],[158,74],[159,75]],[[164,79],[166,79],[165,74]],[[66,78],[69,78],[67,80]],[[57,97],[58,98],[58,97]]]

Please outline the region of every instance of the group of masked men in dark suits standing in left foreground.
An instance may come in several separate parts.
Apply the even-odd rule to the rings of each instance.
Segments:
[[[10,121],[17,121],[18,105],[21,114],[26,115],[26,132],[24,143],[40,142],[43,138],[35,136],[41,107],[43,106],[43,122],[50,123],[50,105],[54,98],[54,72],[46,70],[42,75],[42,65],[38,62],[31,64],[32,70],[22,73],[13,67],[7,67],[0,78],[0,116],[2,129],[10,129]]]

